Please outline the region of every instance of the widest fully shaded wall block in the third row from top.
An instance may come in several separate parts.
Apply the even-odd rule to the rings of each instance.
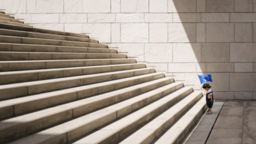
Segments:
[[[206,42],[234,42],[234,24],[207,23]]]

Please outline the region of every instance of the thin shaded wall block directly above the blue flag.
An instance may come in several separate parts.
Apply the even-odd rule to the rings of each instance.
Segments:
[[[207,63],[206,72],[234,72],[234,63]]]

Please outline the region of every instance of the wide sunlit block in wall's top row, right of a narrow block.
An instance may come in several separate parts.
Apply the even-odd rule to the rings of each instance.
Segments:
[[[147,13],[148,0],[121,0],[121,13]]]

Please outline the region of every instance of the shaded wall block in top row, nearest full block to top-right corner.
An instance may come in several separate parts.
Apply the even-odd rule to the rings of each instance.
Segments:
[[[253,12],[253,0],[235,0],[235,12]]]

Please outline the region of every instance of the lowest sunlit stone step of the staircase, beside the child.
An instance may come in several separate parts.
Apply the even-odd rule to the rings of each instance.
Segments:
[[[188,113],[182,116],[171,129],[165,132],[164,135],[156,141],[156,144],[180,143],[205,110],[206,103],[205,99],[202,98],[188,111]]]

